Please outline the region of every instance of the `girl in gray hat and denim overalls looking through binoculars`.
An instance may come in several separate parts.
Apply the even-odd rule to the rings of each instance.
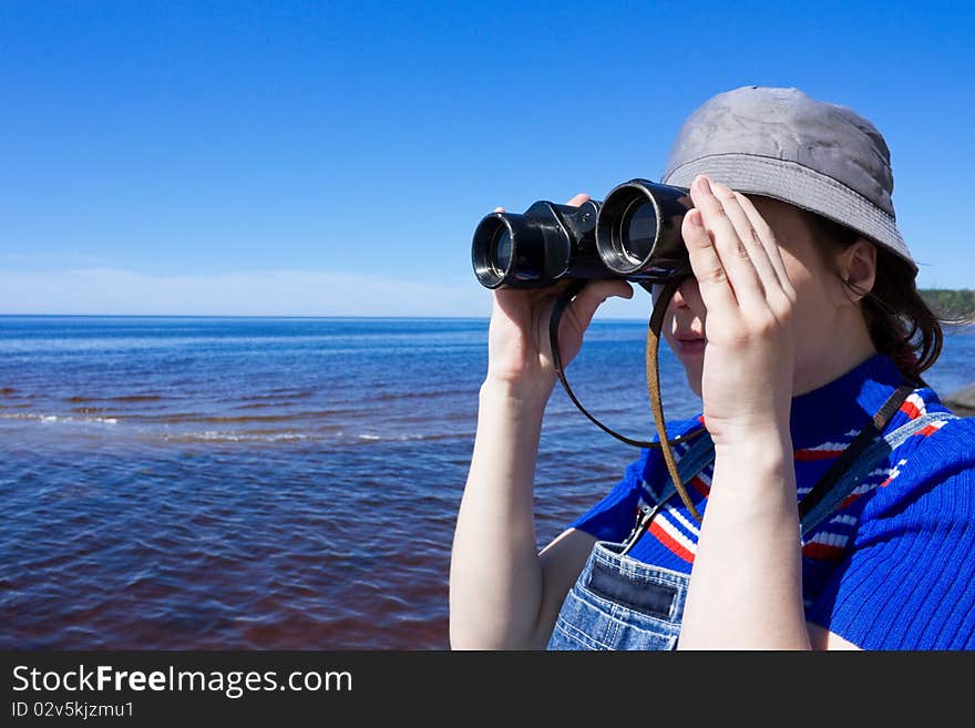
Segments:
[[[706,430],[675,448],[702,521],[647,449],[536,553],[558,291],[495,290],[452,646],[975,647],[975,420],[921,379],[941,329],[896,228],[880,132],[794,89],[738,89],[685,122],[663,182],[694,202],[694,275],[663,331],[704,403],[668,425]],[[602,301],[632,295],[589,283],[562,319],[563,362]]]

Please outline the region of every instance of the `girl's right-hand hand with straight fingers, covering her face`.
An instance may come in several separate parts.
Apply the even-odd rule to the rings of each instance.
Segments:
[[[721,448],[789,432],[796,289],[764,218],[743,195],[698,176],[681,233],[707,308],[705,423]]]

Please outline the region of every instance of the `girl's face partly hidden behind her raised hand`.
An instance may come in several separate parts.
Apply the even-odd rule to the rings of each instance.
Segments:
[[[843,322],[852,310],[851,304],[844,296],[842,281],[827,267],[817,249],[803,214],[777,199],[750,198],[776,233],[782,262],[796,288],[793,392],[799,394],[825,383],[819,381],[817,372],[829,370],[828,362],[837,359],[837,348],[844,345]],[[698,397],[707,350],[707,315],[697,279],[688,276],[667,307],[663,335],[684,365],[688,384]]]

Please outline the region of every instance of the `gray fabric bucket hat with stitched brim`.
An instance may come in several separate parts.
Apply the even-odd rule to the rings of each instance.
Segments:
[[[845,225],[917,273],[891,202],[890,150],[876,127],[846,106],[798,89],[719,93],[684,122],[660,181],[689,187],[698,174]]]

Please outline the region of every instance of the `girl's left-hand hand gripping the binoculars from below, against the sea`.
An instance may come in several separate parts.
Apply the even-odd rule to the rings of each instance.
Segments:
[[[588,199],[579,194],[566,204],[578,207]],[[504,212],[499,207],[494,212]],[[488,380],[515,387],[540,403],[548,400],[556,373],[548,344],[548,319],[568,281],[548,288],[496,289],[488,332]],[[623,279],[592,280],[566,307],[558,327],[562,365],[578,353],[583,334],[599,305],[610,296],[632,298]]]

